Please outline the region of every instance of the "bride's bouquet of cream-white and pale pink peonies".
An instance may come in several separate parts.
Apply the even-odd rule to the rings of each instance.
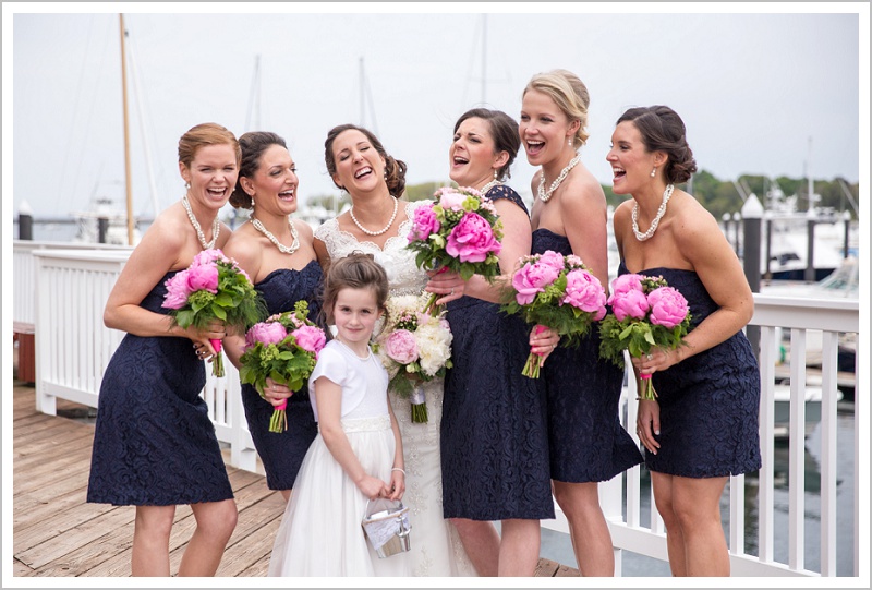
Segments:
[[[427,293],[387,301],[385,329],[374,350],[388,370],[390,388],[412,404],[412,422],[427,421],[424,382],[445,376],[451,368],[451,329],[445,312],[425,311]]]

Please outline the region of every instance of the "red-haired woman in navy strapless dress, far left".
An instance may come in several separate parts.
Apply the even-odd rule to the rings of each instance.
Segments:
[[[201,356],[225,337],[173,325],[162,306],[166,281],[203,250],[222,249],[230,229],[218,220],[239,173],[235,136],[215,123],[179,140],[186,192],[160,213],[133,250],[106,302],[107,327],[126,332],[100,384],[87,502],[135,506],[131,571],[169,576],[175,506],[187,504],[196,528],[179,576],[214,576],[237,526],[237,505],[215,425],[199,393]],[[193,347],[192,347],[193,341]]]

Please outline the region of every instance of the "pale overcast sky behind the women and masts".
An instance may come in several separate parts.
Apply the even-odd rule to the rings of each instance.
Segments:
[[[119,12],[134,210],[146,216],[182,195],[178,140],[205,121],[284,136],[303,198],[338,194],[324,140],[346,122],[373,129],[409,184],[447,182],[458,116],[484,105],[517,118],[529,79],[555,68],[589,87],[581,153],[603,183],[615,120],[653,104],[678,111],[699,167],[722,180],[869,179],[868,3],[2,8],[7,213],[26,201],[37,217],[65,215],[104,195],[123,207]],[[533,172],[521,150],[511,184],[529,193]]]

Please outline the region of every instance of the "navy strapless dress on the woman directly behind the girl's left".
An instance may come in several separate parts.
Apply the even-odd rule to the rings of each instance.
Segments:
[[[308,317],[314,322],[320,309],[316,298],[320,280],[320,265],[312,261],[301,270],[274,270],[254,288],[266,301],[269,315],[293,311],[294,304],[304,299],[308,303]],[[318,433],[308,400],[308,385],[304,384],[288,400],[288,430],[282,433],[269,432],[272,405],[252,385],[242,385],[242,405],[254,448],[264,463],[267,486],[270,490],[292,489],[300,463]]]

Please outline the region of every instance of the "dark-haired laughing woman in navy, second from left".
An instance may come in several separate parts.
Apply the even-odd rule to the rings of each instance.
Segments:
[[[293,311],[298,301],[305,300],[314,321],[318,316],[316,290],[322,269],[312,246],[312,228],[291,218],[298,208],[296,165],[284,140],[275,133],[244,133],[239,143],[242,164],[230,204],[251,209],[251,214],[249,221],[227,242],[225,254],[249,274],[266,301],[269,315]],[[228,336],[226,341],[227,354],[239,368],[244,336]],[[266,396],[269,401],[254,386],[242,385],[245,419],[264,463],[267,486],[281,491],[288,501],[300,463],[318,432],[317,425],[306,385],[299,392],[290,392],[287,386],[267,380]],[[288,430],[269,432],[272,406],[283,399],[288,399]]]

